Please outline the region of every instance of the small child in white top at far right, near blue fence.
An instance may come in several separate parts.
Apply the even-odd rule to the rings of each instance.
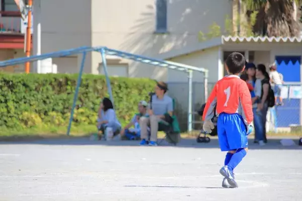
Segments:
[[[275,103],[278,106],[283,106],[283,101],[281,97],[283,75],[277,71],[277,66],[274,63],[270,65],[269,70],[270,83],[275,94]],[[279,102],[277,102],[277,99],[279,99]]]

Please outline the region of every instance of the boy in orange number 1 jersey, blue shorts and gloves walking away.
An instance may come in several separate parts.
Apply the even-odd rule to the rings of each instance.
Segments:
[[[245,58],[233,52],[226,58],[225,68],[229,75],[218,80],[208,97],[203,112],[203,130],[211,133],[211,119],[216,106],[218,141],[221,151],[228,151],[220,174],[224,177],[222,187],[236,188],[234,169],[246,156],[248,135],[252,132],[252,98],[247,83],[239,74],[245,69]],[[227,181],[227,182],[226,182]]]

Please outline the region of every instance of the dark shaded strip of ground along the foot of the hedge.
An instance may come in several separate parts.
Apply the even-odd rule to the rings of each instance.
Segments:
[[[286,137],[287,139],[289,137]],[[249,149],[301,149],[302,146],[298,146],[298,139],[289,138],[295,142],[295,146],[282,146],[280,140],[282,138],[268,138],[268,143],[265,146],[259,146],[254,144],[253,139],[249,140]],[[161,139],[159,140],[161,141]],[[27,139],[22,141],[2,141],[1,145],[7,144],[36,144],[36,145],[83,145],[83,146],[138,146],[139,141],[91,141],[89,137],[66,137],[63,139]],[[176,146],[169,144],[165,140],[160,144],[161,147],[171,147],[171,148],[213,148],[218,149],[217,138],[212,138],[209,143],[197,143],[196,139],[182,139]]]

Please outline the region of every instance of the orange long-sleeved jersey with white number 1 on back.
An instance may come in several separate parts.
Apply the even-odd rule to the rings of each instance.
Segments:
[[[253,121],[252,98],[247,83],[236,75],[228,75],[218,80],[208,97],[202,119],[210,120],[216,112],[240,114],[245,123]]]

